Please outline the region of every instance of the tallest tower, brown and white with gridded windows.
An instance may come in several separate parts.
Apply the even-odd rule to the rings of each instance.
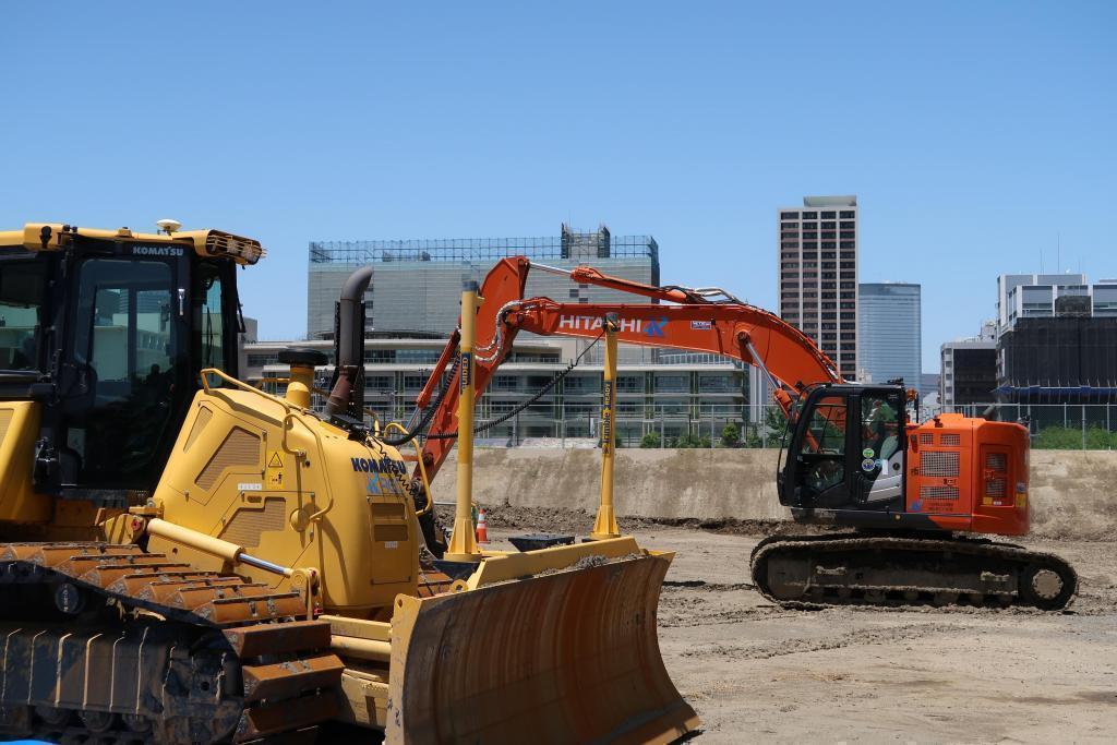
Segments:
[[[857,197],[804,197],[776,213],[780,316],[857,378]]]

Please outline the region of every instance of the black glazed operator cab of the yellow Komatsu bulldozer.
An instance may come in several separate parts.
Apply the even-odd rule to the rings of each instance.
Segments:
[[[57,232],[0,247],[0,400],[39,403],[37,491],[123,502],[157,483],[199,371],[237,373],[235,262],[175,236]]]

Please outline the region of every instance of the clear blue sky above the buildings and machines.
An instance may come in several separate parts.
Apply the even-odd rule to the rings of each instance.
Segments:
[[[113,11],[106,10],[113,8]],[[260,238],[261,336],[315,239],[651,233],[774,307],[775,210],[856,193],[924,369],[1002,271],[1117,277],[1117,4],[4,3],[0,226]]]

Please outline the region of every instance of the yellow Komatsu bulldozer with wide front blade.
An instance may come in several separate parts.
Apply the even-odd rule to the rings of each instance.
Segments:
[[[451,562],[421,561],[430,504],[346,414],[344,370],[333,414],[311,407],[319,352],[285,354],[283,397],[237,379],[236,269],[262,256],[174,221],[0,232],[0,738],[694,732],[657,640],[671,555],[630,537],[483,553],[465,474]]]

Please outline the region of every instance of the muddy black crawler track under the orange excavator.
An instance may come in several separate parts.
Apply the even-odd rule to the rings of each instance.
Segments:
[[[771,536],[753,582],[781,604],[1066,608],[1078,574],[1054,554],[980,538]]]

